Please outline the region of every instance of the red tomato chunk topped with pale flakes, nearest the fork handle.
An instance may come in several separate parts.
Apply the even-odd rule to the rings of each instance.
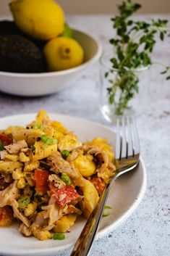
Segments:
[[[79,194],[72,186],[64,186],[61,189],[56,189],[52,193],[56,198],[56,203],[61,208],[79,197]]]

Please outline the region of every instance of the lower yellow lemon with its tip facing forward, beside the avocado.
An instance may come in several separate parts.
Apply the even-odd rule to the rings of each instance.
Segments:
[[[82,46],[73,38],[59,37],[48,41],[43,49],[49,71],[67,70],[82,64]]]

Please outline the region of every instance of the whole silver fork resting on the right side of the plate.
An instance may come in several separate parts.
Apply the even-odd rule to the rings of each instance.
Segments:
[[[140,142],[134,117],[116,121],[116,173],[101,194],[93,212],[85,223],[70,256],[87,256],[98,231],[106,199],[116,178],[134,169],[140,158]]]

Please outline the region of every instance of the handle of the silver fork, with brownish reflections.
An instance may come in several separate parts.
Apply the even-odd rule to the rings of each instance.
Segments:
[[[106,188],[103,190],[103,193],[101,194],[98,204],[96,205],[93,212],[91,212],[90,217],[85,223],[85,226],[82,229],[82,232],[79,238],[77,239],[75,247],[73,248],[72,254],[70,256],[87,256],[88,252],[90,252],[93,240],[95,239],[95,235],[98,231],[99,223],[101,222],[104,205],[106,203],[106,199],[108,197],[110,188],[111,184],[108,184]]]

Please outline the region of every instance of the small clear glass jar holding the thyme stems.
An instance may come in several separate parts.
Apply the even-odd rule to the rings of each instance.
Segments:
[[[113,123],[116,118],[128,115],[137,117],[147,110],[150,73],[149,67],[140,67],[137,70],[125,70],[123,77],[120,75],[120,70],[112,68],[111,56],[113,53],[103,54],[100,59],[100,109],[106,120]],[[127,98],[124,96],[124,88],[122,87],[122,85],[126,86],[126,82],[122,83],[122,79],[126,81],[127,77],[128,79],[132,78],[132,81],[134,81],[133,79],[138,80],[135,89],[130,91],[132,98],[130,96],[129,100],[127,99],[128,96]],[[131,86],[130,83],[128,84]],[[126,105],[125,108],[124,105]]]

